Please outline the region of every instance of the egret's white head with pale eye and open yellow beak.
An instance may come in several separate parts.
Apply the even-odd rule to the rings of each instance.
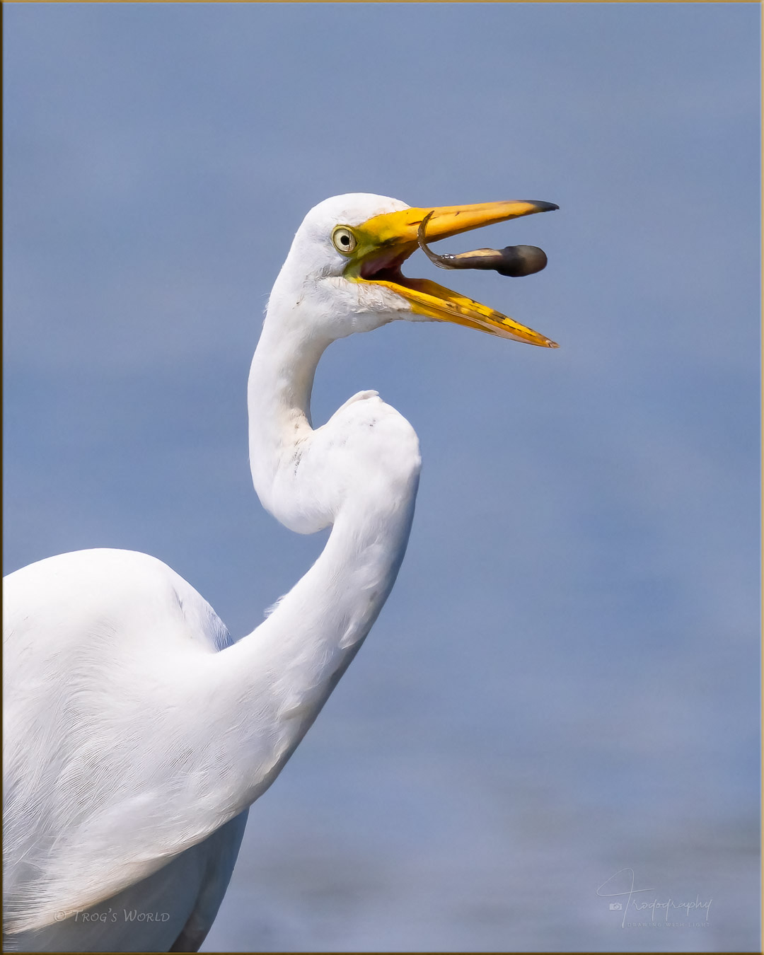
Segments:
[[[556,208],[551,202],[530,201],[412,208],[367,193],[335,196],[314,206],[297,230],[270,306],[287,306],[298,321],[304,315],[316,334],[329,339],[407,319],[455,322],[557,348],[493,308],[401,273],[401,265],[418,246],[417,232],[426,217],[427,239],[433,242]]]

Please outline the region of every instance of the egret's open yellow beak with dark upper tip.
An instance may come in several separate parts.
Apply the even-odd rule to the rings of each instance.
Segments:
[[[402,209],[374,216],[353,229],[357,246],[353,256],[356,266],[352,278],[386,286],[402,296],[412,310],[442,322],[455,322],[469,329],[487,331],[501,338],[559,348],[538,331],[528,329],[493,308],[481,305],[450,288],[428,279],[409,279],[400,266],[418,247],[417,231],[422,220],[432,213],[427,223],[427,241],[447,239],[481,225],[502,223],[507,219],[548,212],[559,206],[553,202],[480,202],[476,205],[446,205],[435,209]]]

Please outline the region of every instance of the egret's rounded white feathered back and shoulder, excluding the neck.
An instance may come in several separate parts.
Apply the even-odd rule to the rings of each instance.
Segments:
[[[191,704],[228,638],[190,584],[132,551],[58,555],[4,589],[4,898],[32,929],[226,821],[200,804],[211,730]]]

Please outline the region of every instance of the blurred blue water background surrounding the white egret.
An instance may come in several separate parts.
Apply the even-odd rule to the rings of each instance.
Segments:
[[[319,368],[317,422],[414,423],[414,531],[205,947],[758,950],[758,6],[3,12],[6,572],[133,548],[248,632],[325,540],[246,460],[308,208],[561,206],[438,246],[541,245],[456,287],[560,350],[396,323]],[[623,928],[625,867],[708,924]]]

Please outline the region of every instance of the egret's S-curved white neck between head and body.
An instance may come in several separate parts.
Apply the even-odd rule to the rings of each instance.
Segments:
[[[252,361],[255,488],[287,526],[309,532],[331,523],[332,530],[271,615],[219,654],[221,698],[239,701],[237,712],[219,718],[226,749],[233,746],[242,767],[241,808],[278,774],[371,629],[414,517],[418,446],[399,414],[379,398],[351,399],[324,428],[312,429],[313,376],[328,345],[283,334],[270,318]],[[248,720],[250,713],[257,718]]]

